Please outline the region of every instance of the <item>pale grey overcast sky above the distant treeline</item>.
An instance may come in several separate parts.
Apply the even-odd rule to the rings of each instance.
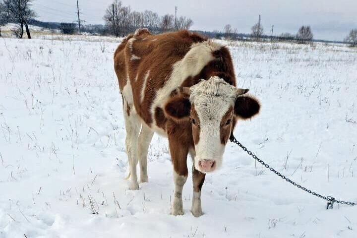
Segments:
[[[103,24],[105,9],[113,0],[78,0],[81,18],[86,23]],[[231,24],[240,33],[261,21],[265,33],[274,25],[274,34],[296,33],[301,25],[310,25],[315,39],[343,40],[357,28],[357,0],[122,0],[132,10],[152,10],[159,15],[175,13],[194,21],[192,30],[223,30]],[[43,21],[76,20],[76,0],[34,0],[38,19]]]

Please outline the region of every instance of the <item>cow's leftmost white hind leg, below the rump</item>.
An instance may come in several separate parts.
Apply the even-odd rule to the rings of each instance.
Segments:
[[[125,138],[125,150],[126,155],[128,157],[129,164],[129,189],[137,190],[139,189],[139,184],[136,176],[136,165],[138,162],[137,159],[137,144],[138,144],[138,136],[141,126],[141,121],[137,118],[135,109],[130,107],[129,104],[123,100],[124,105],[124,120],[125,120],[125,130],[126,130],[126,138]]]

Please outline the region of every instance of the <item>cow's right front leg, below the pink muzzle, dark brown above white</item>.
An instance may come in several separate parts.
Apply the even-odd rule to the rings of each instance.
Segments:
[[[193,195],[191,212],[195,217],[199,217],[203,214],[201,206],[201,189],[205,176],[206,174],[199,172],[194,168],[194,164],[192,165]]]

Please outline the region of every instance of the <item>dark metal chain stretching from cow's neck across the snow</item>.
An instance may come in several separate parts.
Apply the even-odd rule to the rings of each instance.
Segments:
[[[293,180],[285,177],[284,175],[280,174],[278,171],[274,170],[272,167],[270,167],[268,164],[266,164],[264,161],[262,161],[261,159],[259,159],[256,155],[254,155],[251,151],[249,151],[245,146],[243,146],[242,144],[240,144],[240,142],[236,139],[236,137],[234,137],[233,135],[230,138],[231,142],[236,143],[237,145],[239,145],[239,147],[241,147],[245,152],[248,153],[248,155],[250,155],[251,157],[253,157],[256,161],[258,161],[260,164],[262,164],[265,168],[269,169],[271,172],[274,172],[276,175],[280,176],[282,179],[290,182],[291,184],[293,184],[294,186],[297,186],[298,188],[316,196],[319,198],[322,198],[324,200],[327,201],[327,207],[326,209],[332,209],[333,208],[333,204],[334,203],[341,203],[341,204],[347,204],[347,205],[351,205],[351,206],[355,206],[357,205],[357,203],[355,202],[348,202],[348,201],[342,201],[342,200],[337,200],[336,198],[332,197],[332,196],[323,196],[320,195],[314,191],[311,191],[310,189],[307,189],[306,187],[301,186],[300,184],[294,182]]]

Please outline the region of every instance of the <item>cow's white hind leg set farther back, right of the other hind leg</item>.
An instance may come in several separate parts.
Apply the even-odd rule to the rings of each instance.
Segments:
[[[138,140],[138,154],[140,166],[140,182],[148,182],[147,176],[147,154],[154,132],[146,125],[142,124]]]

